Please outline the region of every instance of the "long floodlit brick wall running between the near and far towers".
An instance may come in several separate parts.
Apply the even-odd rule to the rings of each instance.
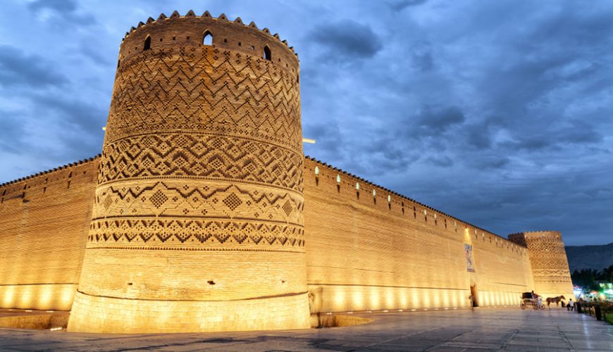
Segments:
[[[310,158],[304,198],[313,313],[468,307],[471,286],[480,306],[514,305],[532,289],[525,248]]]

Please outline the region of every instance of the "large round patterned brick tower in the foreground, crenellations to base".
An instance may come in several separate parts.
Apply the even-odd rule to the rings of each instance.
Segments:
[[[132,27],[70,331],[309,327],[298,78],[240,18]]]

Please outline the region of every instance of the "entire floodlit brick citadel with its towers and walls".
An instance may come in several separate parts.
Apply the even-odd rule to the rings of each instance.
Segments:
[[[240,18],[132,27],[101,154],[0,184],[0,308],[216,332],[573,296],[559,232],[505,239],[305,157],[299,78]]]

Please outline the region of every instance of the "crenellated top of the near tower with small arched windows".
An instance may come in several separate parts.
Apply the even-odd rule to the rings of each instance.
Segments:
[[[212,43],[204,44],[207,37]],[[258,56],[293,72],[298,70],[298,55],[279,34],[271,34],[268,28],[260,30],[254,22],[245,25],[240,17],[229,20],[222,13],[215,18],[209,11],[198,16],[191,10],[185,15],[174,11],[170,17],[161,13],[156,20],[149,17],[146,23],[132,27],[122,39],[118,66],[125,59],[149,49],[207,45]]]

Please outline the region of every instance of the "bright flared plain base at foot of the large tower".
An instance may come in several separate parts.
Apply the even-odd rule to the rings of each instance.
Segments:
[[[240,301],[143,301],[77,293],[73,307],[87,315],[70,319],[70,332],[136,334],[308,329],[306,294]]]

